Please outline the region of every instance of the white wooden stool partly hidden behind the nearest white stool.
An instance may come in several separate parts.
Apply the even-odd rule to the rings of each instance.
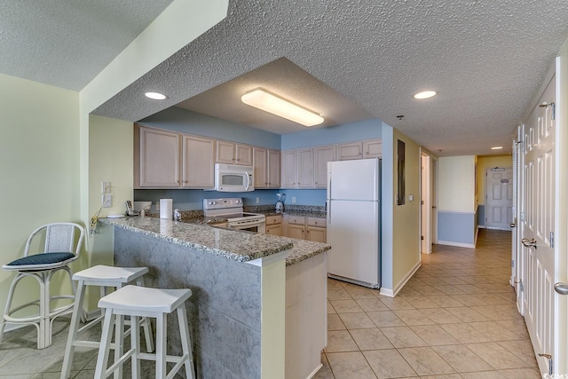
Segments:
[[[108,265],[96,265],[76,272],[73,275],[73,280],[78,280],[77,293],[75,297],[75,306],[73,309],[73,316],[71,317],[71,324],[69,325],[69,336],[67,336],[67,346],[65,349],[65,356],[63,359],[63,367],[61,368],[61,379],[67,379],[71,373],[71,366],[73,363],[73,355],[75,353],[75,346],[81,347],[100,347],[98,341],[85,341],[79,340],[78,335],[99,323],[104,318],[104,313],[98,316],[95,320],[79,328],[80,320],[83,316],[83,300],[85,296],[86,286],[97,286],[100,288],[100,296],[106,296],[107,288],[122,288],[124,285],[136,280],[138,286],[144,286],[142,276],[148,272],[147,267],[114,267]],[[141,320],[141,325],[144,327],[146,336],[146,350],[148,352],[154,351],[154,338],[152,336],[152,327],[150,320]],[[131,331],[138,333],[138,328],[130,328]],[[127,332],[126,334],[128,334]],[[118,359],[122,355],[122,328],[116,329],[116,336],[114,338],[114,359]],[[119,371],[116,377],[122,376]]]

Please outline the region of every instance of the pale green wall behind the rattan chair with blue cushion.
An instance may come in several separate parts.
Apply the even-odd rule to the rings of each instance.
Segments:
[[[79,94],[0,74],[0,262],[22,256],[37,226],[81,220],[79,202]],[[84,254],[81,260],[86,259]],[[13,273],[0,271],[0,306]],[[54,286],[57,286],[57,282]],[[28,282],[28,298],[38,294]],[[27,290],[28,289],[28,290]],[[10,328],[11,325],[8,326]]]

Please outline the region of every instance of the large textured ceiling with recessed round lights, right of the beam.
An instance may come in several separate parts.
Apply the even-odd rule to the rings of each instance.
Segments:
[[[568,37],[567,20],[565,0],[233,0],[225,20],[95,113],[138,121],[283,57],[335,91],[335,99],[362,108],[359,119],[371,114],[435,154],[494,154],[495,145],[509,152],[516,125]],[[67,65],[75,68],[81,73]],[[298,90],[294,78],[274,86],[327,99],[314,92],[319,85]],[[412,98],[424,89],[438,96]],[[148,101],[144,91],[169,99]],[[340,120],[338,114],[329,117]],[[405,117],[398,121],[398,114]],[[250,116],[248,123],[260,127],[255,122]]]

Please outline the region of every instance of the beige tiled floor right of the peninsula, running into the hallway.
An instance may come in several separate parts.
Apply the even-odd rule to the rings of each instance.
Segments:
[[[477,249],[435,245],[395,298],[338,280],[327,288],[327,348],[315,378],[540,378],[509,286],[510,233]]]

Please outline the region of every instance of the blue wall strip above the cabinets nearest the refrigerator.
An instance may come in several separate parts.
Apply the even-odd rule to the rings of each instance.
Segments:
[[[282,150],[381,138],[383,122],[367,120],[282,135]]]

